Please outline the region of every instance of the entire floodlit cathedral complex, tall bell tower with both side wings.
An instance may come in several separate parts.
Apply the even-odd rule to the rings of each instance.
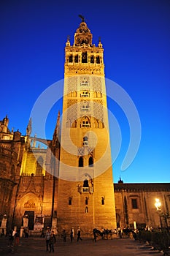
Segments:
[[[10,131],[7,116],[0,121],[0,233],[170,226],[169,183],[113,183],[104,48],[81,18],[74,44],[66,42],[63,115],[53,139],[31,137],[31,119],[26,135]]]

